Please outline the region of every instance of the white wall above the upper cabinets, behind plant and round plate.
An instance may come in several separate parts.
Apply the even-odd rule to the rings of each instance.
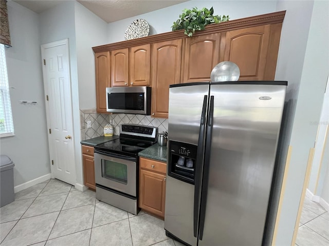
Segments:
[[[276,11],[277,1],[188,1],[167,8],[159,9],[146,14],[126,18],[108,24],[107,43],[115,43],[124,40],[126,28],[136,19],[143,18],[149,22],[150,35],[169,32],[171,26],[179,18],[184,9],[197,7],[214,8],[216,15],[229,15],[230,19],[238,19],[253,15],[266,14]]]

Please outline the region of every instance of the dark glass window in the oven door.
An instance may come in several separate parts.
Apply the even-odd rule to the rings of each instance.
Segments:
[[[102,159],[102,177],[127,184],[127,165]]]

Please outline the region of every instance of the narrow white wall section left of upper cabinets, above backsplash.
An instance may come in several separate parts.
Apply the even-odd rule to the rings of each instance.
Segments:
[[[106,44],[107,23],[75,2],[80,109],[96,109],[95,59],[92,47]]]

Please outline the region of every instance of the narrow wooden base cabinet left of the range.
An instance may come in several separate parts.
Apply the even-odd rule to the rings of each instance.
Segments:
[[[96,190],[94,147],[82,146],[84,185]]]

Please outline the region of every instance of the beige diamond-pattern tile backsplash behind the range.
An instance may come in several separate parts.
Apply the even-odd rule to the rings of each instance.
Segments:
[[[100,114],[96,109],[80,110],[80,130],[81,140],[90,139],[104,135],[104,126],[113,119],[112,126],[114,134],[120,134],[121,124],[135,124],[143,126],[153,126],[158,128],[158,132],[168,130],[168,119],[154,118],[149,115],[140,114]],[[87,121],[91,121],[91,128],[87,128]]]

